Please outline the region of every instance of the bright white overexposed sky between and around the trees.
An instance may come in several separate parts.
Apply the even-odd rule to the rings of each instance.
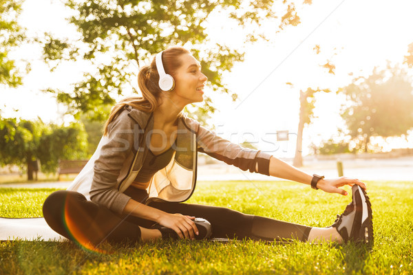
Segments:
[[[271,43],[248,46],[244,63],[235,65],[232,72],[226,74],[224,82],[240,100],[231,102],[229,96],[207,91],[220,110],[212,121],[218,135],[232,142],[248,140],[278,157],[293,157],[299,89],[336,89],[350,83],[349,73],[367,76],[374,66],[384,66],[386,60],[402,63],[407,45],[413,42],[413,36],[409,35],[413,26],[412,10],[412,1],[314,0],[313,5],[305,5],[303,10],[298,10],[301,24],[274,35]],[[47,16],[39,17],[39,14]],[[53,32],[62,37],[75,37],[76,32],[65,22],[66,16],[60,1],[25,1],[21,23],[29,34]],[[213,22],[209,27],[216,39],[239,40],[236,30],[222,32],[222,21]],[[264,31],[274,32],[269,25]],[[320,45],[319,55],[313,52],[316,44]],[[39,59],[41,49],[25,46],[15,54],[31,61],[32,72],[25,77],[23,86],[0,93],[2,115],[28,119],[39,116],[45,121],[61,122],[65,107],[59,107],[50,94],[40,90],[67,87],[81,78],[82,67],[67,64],[51,74]],[[335,76],[319,67],[327,59],[337,68]],[[286,82],[293,83],[294,87],[285,85]],[[137,83],[131,85],[137,87]],[[318,144],[327,140],[337,135],[337,126],[343,127],[339,117],[342,103],[343,98],[335,94],[317,98],[318,118],[304,130],[304,155],[311,142]],[[290,131],[288,142],[275,141],[275,132],[280,130]],[[410,134],[404,141],[390,142],[392,147],[412,147],[413,137]]]

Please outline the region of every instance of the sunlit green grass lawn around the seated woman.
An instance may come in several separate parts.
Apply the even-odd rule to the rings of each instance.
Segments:
[[[367,183],[371,251],[351,243],[158,241],[105,243],[112,253],[96,254],[68,242],[6,241],[0,243],[0,274],[412,274],[413,182]],[[0,216],[41,217],[41,204],[53,190],[0,188]],[[221,181],[198,183],[189,202],[324,227],[350,200],[286,181]]]

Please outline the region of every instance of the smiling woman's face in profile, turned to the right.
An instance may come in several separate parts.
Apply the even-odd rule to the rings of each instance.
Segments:
[[[200,63],[191,54],[182,54],[180,60],[182,65],[173,76],[175,88],[171,96],[184,104],[202,102],[207,76],[202,74]]]

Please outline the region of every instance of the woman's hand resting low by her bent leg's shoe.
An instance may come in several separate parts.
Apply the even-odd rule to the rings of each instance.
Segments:
[[[182,214],[170,214],[166,213],[162,215],[158,223],[167,228],[171,228],[173,231],[180,236],[181,239],[195,239],[194,234],[200,234],[198,228],[196,228],[193,222],[195,217],[184,216]]]

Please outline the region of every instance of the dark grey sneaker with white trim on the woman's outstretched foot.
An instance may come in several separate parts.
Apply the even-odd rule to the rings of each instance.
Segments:
[[[335,223],[331,226],[343,238],[343,241],[354,241],[373,245],[373,216],[370,198],[357,184],[352,186],[352,202],[348,204],[343,214],[337,214]]]

